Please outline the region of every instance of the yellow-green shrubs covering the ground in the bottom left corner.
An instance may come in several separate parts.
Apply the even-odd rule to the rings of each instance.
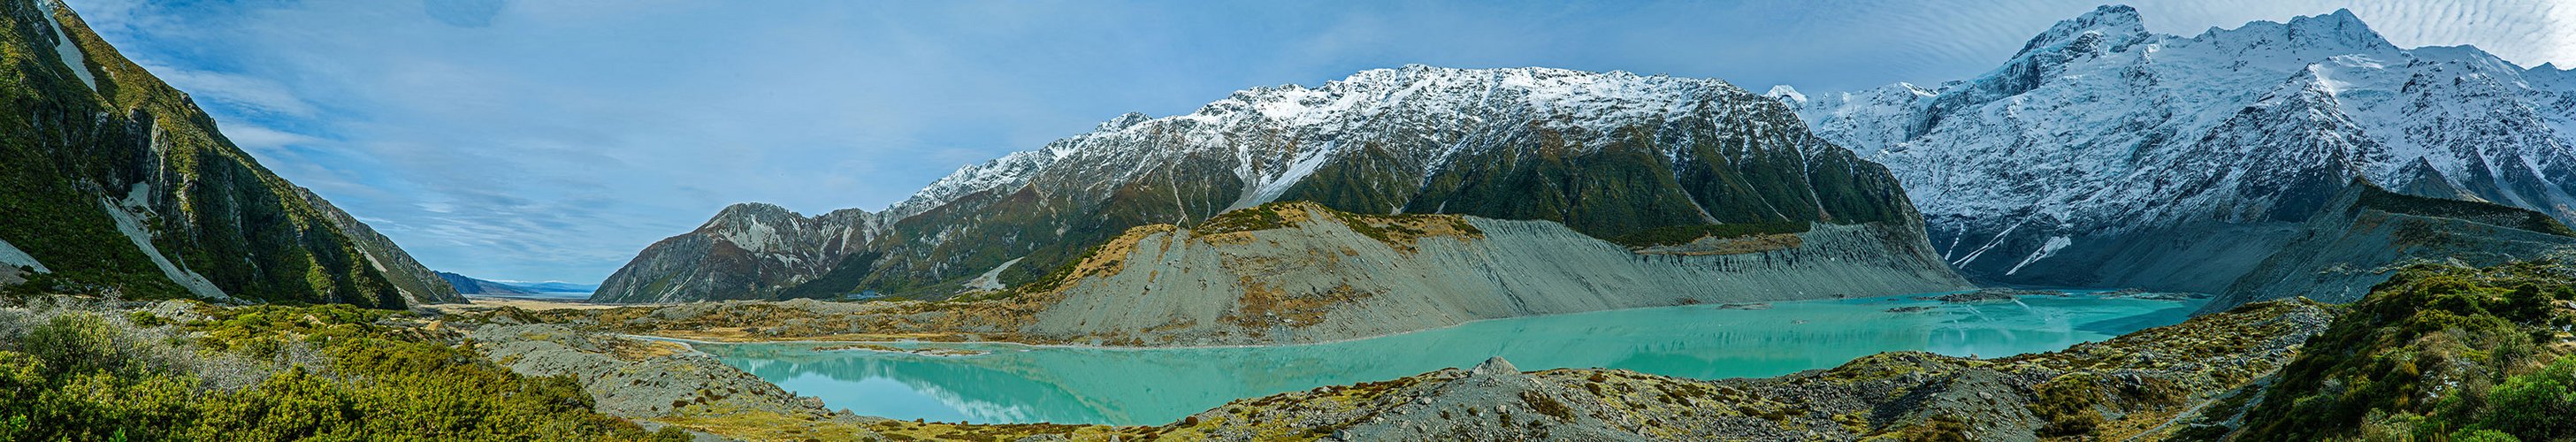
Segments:
[[[394,314],[222,308],[188,324],[201,339],[88,311],[18,316],[36,324],[0,342],[0,439],[688,439],[595,414],[572,378],[518,375],[456,342],[376,324]],[[319,365],[276,367],[237,391],[188,367],[268,357],[167,360],[273,355],[286,342],[319,349]]]

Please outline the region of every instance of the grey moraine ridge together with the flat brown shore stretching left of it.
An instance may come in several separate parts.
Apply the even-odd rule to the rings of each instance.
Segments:
[[[1306,344],[1535,314],[1971,288],[1919,229],[1801,224],[1615,244],[1556,221],[1283,200],[1193,226],[1136,226],[1033,283],[984,280],[948,301],[726,301],[559,311],[549,321],[690,339]]]

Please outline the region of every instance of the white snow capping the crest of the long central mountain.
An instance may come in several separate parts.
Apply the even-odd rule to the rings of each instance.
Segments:
[[[896,203],[886,213],[902,218],[927,211],[930,206],[948,203],[958,195],[1015,188],[1066,157],[1167,159],[1188,154],[1231,157],[1231,175],[1244,182],[1244,193],[1242,200],[1231,200],[1229,208],[1247,208],[1275,200],[1291,185],[1316,172],[1316,167],[1327,159],[1350,154],[1352,146],[1363,141],[1388,141],[1370,139],[1386,128],[1458,126],[1443,123],[1448,118],[1471,121],[1468,126],[1484,126],[1486,134],[1461,134],[1455,128],[1448,134],[1401,134],[1417,139],[1458,139],[1427,152],[1404,152],[1409,157],[1427,159],[1427,170],[1440,170],[1453,157],[1466,154],[1471,141],[1481,141],[1473,136],[1517,131],[1494,121],[1528,121],[1540,128],[1582,134],[1584,139],[1574,139],[1582,149],[1600,149],[1607,139],[1613,139],[1613,134],[1597,128],[1682,118],[1718,93],[1741,95],[1741,90],[1718,80],[1638,77],[1628,72],[1602,75],[1546,67],[1443,69],[1419,64],[1401,69],[1368,69],[1321,87],[1280,85],[1242,90],[1185,116],[1146,118],[1141,113],[1128,113],[1100,123],[1100,128],[1090,134],[1061,139],[1043,149],[1015,152],[994,162],[963,167],[914,193],[909,200]],[[1270,149],[1270,144],[1252,139],[1255,131],[1275,131],[1267,134],[1267,139],[1296,139],[1301,144]],[[1167,136],[1177,141],[1177,149],[1136,152],[1139,146],[1154,146],[1139,144],[1149,136]],[[1345,141],[1345,136],[1355,139]],[[1667,157],[1672,157],[1672,152],[1667,152]],[[1121,164],[1072,162],[1066,167]],[[1128,175],[1121,177],[1133,177],[1146,170],[1126,172]]]

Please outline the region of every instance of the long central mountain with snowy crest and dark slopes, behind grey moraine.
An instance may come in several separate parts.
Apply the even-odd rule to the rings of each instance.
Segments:
[[[1721,80],[1404,67],[1242,90],[1188,116],[1128,113],[963,167],[876,213],[866,234],[824,231],[866,244],[819,242],[842,249],[796,249],[801,267],[760,278],[742,275],[788,260],[706,270],[693,262],[729,257],[716,257],[708,229],[683,234],[611,278],[598,301],[943,298],[1025,285],[1133,226],[1195,226],[1270,200],[1553,221],[1600,239],[1710,224],[1917,224],[1883,167]],[[1888,242],[1911,247],[1909,234]]]

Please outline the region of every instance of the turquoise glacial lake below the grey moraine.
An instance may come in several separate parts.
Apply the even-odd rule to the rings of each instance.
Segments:
[[[2205,301],[2102,293],[1940,303],[1911,296],[1783,301],[1770,308],[1669,306],[1471,321],[1394,337],[1285,347],[1103,349],[889,342],[984,349],[927,357],[829,344],[696,344],[829,409],[976,424],[1170,424],[1180,416],[1316,385],[1473,367],[1502,355],[1520,370],[1625,367],[1680,378],[1765,378],[1834,367],[1873,352],[2004,357],[2053,352],[2190,319]],[[1924,306],[1929,311],[1888,311]]]

